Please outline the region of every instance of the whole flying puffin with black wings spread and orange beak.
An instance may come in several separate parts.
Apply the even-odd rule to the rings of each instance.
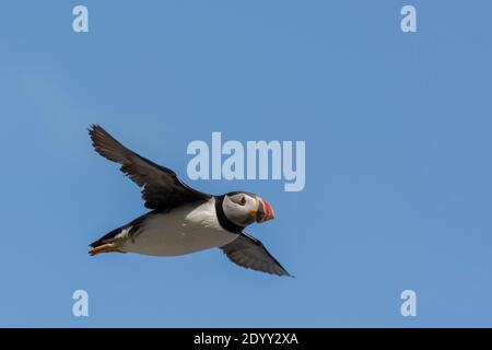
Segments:
[[[99,125],[89,135],[94,150],[119,163],[120,171],[141,188],[145,214],[90,244],[89,254],[137,253],[179,256],[220,248],[238,266],[292,277],[263,244],[244,232],[253,223],[273,219],[260,196],[231,191],[214,196],[186,185],[172,170],[137,154]]]

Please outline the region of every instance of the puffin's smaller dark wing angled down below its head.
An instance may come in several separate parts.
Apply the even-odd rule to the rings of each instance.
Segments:
[[[242,233],[239,236],[221,247],[227,258],[245,268],[292,277],[279,261],[268,253],[262,243],[255,237]]]

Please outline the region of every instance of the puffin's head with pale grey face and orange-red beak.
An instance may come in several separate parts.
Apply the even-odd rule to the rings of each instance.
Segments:
[[[273,219],[271,206],[261,197],[248,192],[229,192],[222,201],[225,217],[239,226],[254,222],[265,222]]]

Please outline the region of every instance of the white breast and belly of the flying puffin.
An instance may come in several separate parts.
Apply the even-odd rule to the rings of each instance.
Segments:
[[[121,250],[145,255],[184,255],[220,247],[237,238],[222,229],[215,214],[215,199],[203,205],[185,206],[168,213],[157,213],[144,220],[133,241]]]

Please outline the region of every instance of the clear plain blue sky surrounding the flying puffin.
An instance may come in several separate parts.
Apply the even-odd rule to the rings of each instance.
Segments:
[[[90,33],[72,32],[85,4]],[[418,33],[400,31],[413,4]],[[3,1],[0,326],[492,326],[490,1]],[[90,257],[145,212],[98,122],[201,190],[260,194],[293,273]],[[306,187],[188,180],[192,140],[305,140]],[[73,317],[74,290],[90,316]],[[400,315],[417,292],[418,316]]]

